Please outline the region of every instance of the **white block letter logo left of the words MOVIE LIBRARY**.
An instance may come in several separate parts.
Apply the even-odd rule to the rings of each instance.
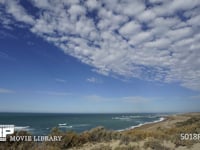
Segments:
[[[6,141],[6,135],[14,133],[14,125],[0,125],[0,141]]]

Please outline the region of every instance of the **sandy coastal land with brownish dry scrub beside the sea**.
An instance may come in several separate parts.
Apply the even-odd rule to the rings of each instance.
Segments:
[[[137,125],[122,132],[96,127],[76,133],[62,132],[55,128],[50,136],[62,136],[60,142],[32,142],[32,150],[37,149],[69,149],[69,150],[199,150],[200,138],[181,140],[181,133],[199,133],[200,112],[172,114],[154,122]],[[18,135],[29,135],[19,131]],[[188,136],[187,136],[188,137]],[[200,133],[199,133],[200,137]],[[30,149],[30,143],[19,142],[17,145],[0,143],[3,149]]]

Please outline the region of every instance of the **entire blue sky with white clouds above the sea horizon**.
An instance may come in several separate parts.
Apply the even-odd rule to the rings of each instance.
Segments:
[[[0,112],[200,111],[199,0],[0,0]]]

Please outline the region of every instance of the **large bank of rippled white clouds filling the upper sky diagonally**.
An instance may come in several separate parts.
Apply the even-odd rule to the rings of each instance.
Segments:
[[[200,90],[199,0],[0,0],[1,26],[25,24],[104,75]]]

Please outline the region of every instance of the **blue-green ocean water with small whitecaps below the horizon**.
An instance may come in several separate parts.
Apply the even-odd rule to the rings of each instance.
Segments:
[[[63,131],[83,132],[97,126],[125,130],[142,124],[163,120],[167,113],[132,114],[57,114],[57,113],[0,113],[0,124],[13,124],[15,130],[33,135],[48,135],[54,127]]]

